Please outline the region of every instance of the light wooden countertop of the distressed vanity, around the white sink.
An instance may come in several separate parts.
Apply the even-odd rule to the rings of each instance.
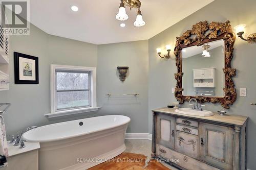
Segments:
[[[195,118],[195,119],[201,119],[201,120],[209,120],[213,122],[220,122],[220,123],[225,123],[229,125],[234,125],[234,126],[243,126],[248,117],[246,116],[239,116],[239,115],[231,115],[231,114],[225,114],[225,115],[220,115],[219,113],[214,113],[213,116],[193,116],[193,115],[187,115],[187,114],[182,114],[175,112],[175,109],[173,108],[158,108],[158,109],[153,109],[153,112],[160,112],[160,113],[167,113],[167,114],[172,114],[172,115],[178,115],[182,117],[188,117],[188,118]]]

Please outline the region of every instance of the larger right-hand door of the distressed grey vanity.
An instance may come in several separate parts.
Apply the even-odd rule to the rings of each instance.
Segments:
[[[200,123],[200,160],[220,169],[232,169],[233,129]]]

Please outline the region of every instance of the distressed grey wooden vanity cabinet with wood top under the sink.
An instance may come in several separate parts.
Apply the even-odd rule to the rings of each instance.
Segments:
[[[188,170],[246,169],[248,117],[153,110],[152,157]],[[177,161],[174,161],[177,160]]]

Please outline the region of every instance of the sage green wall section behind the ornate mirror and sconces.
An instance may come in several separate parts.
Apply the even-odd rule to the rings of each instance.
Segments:
[[[172,87],[175,87],[176,81],[174,74],[177,72],[175,60],[163,60],[157,57],[156,48],[171,44],[174,48],[176,37],[181,36],[186,30],[190,30],[192,25],[199,21],[219,21],[230,20],[231,26],[237,26],[245,23],[245,37],[256,30],[256,1],[255,0],[215,0],[204,8],[191,14],[185,19],[179,21],[174,26],[166,29],[158,35],[148,40],[149,54],[149,84],[148,84],[148,129],[152,132],[152,112],[158,107],[165,107],[171,102],[176,102]],[[234,77],[234,83],[239,94],[239,88],[247,88],[247,96],[238,96],[237,101],[225,110],[219,104],[206,104],[205,109],[211,111],[225,110],[228,114],[244,115],[249,117],[248,122],[248,152],[247,164],[249,169],[256,169],[256,107],[250,103],[256,102],[256,76],[254,65],[256,63],[256,44],[249,44],[237,38],[234,44],[234,56],[232,67],[237,68],[237,76]],[[214,106],[214,107],[213,107]],[[182,107],[190,107],[187,103]]]

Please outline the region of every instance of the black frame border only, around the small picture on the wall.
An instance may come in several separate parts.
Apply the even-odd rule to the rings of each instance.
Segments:
[[[19,58],[20,57],[30,59],[30,60],[35,60],[35,80],[20,80],[19,78]],[[14,79],[15,79],[15,84],[39,84],[38,57],[14,52]]]

